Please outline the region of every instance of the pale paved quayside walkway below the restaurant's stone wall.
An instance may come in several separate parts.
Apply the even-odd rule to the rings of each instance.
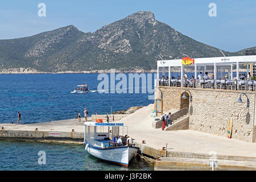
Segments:
[[[134,138],[137,143],[146,140],[147,146],[156,149],[162,149],[168,143],[168,151],[207,155],[210,151],[215,151],[217,155],[256,158],[256,143],[228,139],[200,131],[153,129],[152,120],[154,118],[150,116],[152,109],[154,109],[154,104],[143,107],[119,121],[129,126],[129,136]]]

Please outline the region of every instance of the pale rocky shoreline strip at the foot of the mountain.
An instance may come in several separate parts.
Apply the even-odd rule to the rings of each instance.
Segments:
[[[115,69],[115,73],[156,73],[156,69]],[[9,68],[1,69],[0,74],[63,74],[63,73],[110,73],[110,69],[94,70],[94,71],[62,71],[62,72],[40,72],[34,68]]]

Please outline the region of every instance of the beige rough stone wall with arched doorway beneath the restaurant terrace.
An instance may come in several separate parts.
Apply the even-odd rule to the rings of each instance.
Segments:
[[[175,88],[158,86],[163,92],[163,111],[189,108],[189,130],[202,131],[222,137],[228,137],[229,118],[232,117],[232,138],[246,142],[255,142],[255,92],[244,90],[220,90],[200,88]],[[160,98],[160,90],[155,89],[155,98]],[[185,90],[187,99],[181,98]],[[250,100],[246,108],[246,96],[243,103],[237,100],[246,93]]]

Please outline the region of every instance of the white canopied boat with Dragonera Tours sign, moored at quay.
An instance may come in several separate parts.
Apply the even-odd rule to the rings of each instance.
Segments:
[[[84,144],[85,150],[92,156],[128,167],[129,162],[139,150],[134,144],[126,145],[123,123],[85,122]],[[114,142],[114,136],[122,136],[123,146]],[[127,133],[126,133],[127,134]]]

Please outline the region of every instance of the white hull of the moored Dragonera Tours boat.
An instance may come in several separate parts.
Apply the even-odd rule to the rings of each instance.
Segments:
[[[125,146],[102,149],[87,146],[85,150],[98,159],[128,167],[130,160],[133,159],[133,156],[137,153],[139,148]]]

